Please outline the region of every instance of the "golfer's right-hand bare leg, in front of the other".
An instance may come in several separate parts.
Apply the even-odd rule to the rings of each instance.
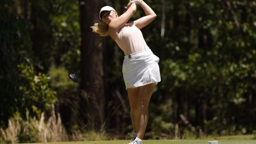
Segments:
[[[150,83],[139,87],[139,130],[137,138],[142,139],[147,127],[148,121],[148,104],[153,93],[156,83]]]

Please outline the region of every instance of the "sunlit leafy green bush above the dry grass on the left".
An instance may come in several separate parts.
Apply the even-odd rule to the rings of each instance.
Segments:
[[[28,64],[29,63],[29,59]],[[52,103],[56,102],[56,92],[49,88],[49,79],[45,74],[35,74],[32,65],[18,65],[20,78],[26,81],[19,85],[22,93],[21,107],[19,111],[29,109],[32,116],[40,117],[44,111],[52,108]]]

